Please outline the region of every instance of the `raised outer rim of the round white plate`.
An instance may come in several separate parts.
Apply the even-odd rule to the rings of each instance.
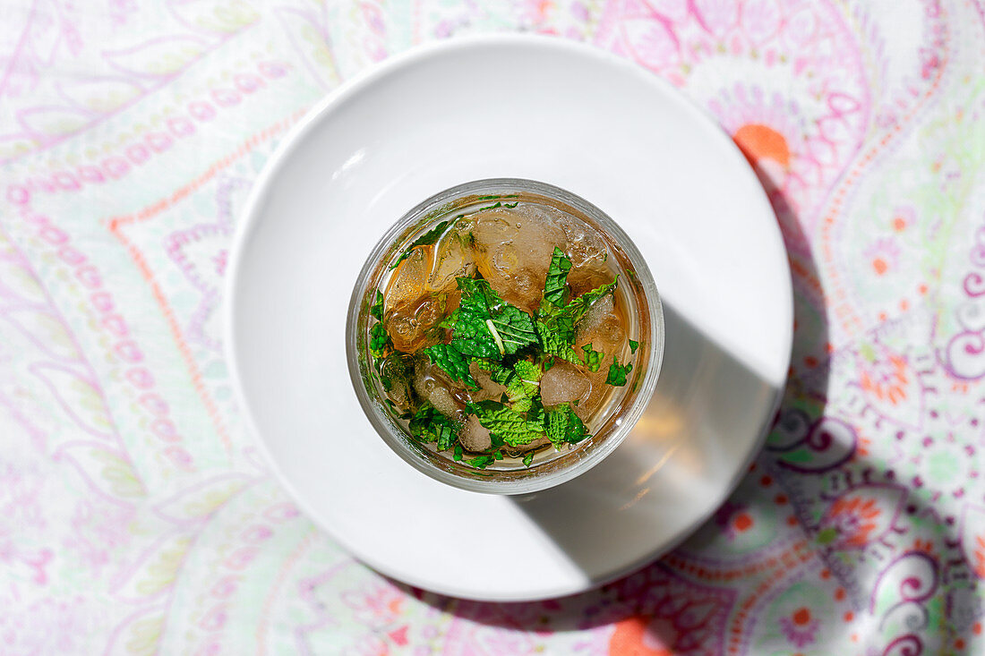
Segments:
[[[334,542],[338,543],[350,556],[356,558],[363,564],[368,565],[374,571],[383,576],[393,578],[404,584],[431,591],[436,594],[480,602],[532,602],[580,594],[611,583],[627,575],[628,573],[639,569],[647,563],[652,562],[657,558],[661,558],[663,555],[673,551],[691,535],[693,535],[694,531],[717,511],[717,509],[732,494],[732,492],[735,492],[736,488],[738,488],[741,481],[747,475],[750,464],[762,450],[763,444],[765,443],[766,437],[769,433],[769,427],[772,425],[772,418],[775,417],[775,414],[783,399],[784,389],[788,378],[787,373],[784,371],[781,380],[765,381],[770,385],[775,383],[777,385],[776,391],[773,395],[774,398],[772,400],[770,411],[765,415],[766,419],[764,420],[763,425],[760,426],[753,446],[750,448],[745,461],[742,463],[742,466],[736,469],[736,473],[728,482],[728,485],[721,488],[720,494],[716,495],[715,502],[709,506],[707,511],[695,515],[693,520],[687,524],[686,528],[679,531],[678,535],[676,535],[673,539],[668,540],[658,549],[652,550],[646,556],[615,568],[605,576],[592,577],[587,572],[582,572],[583,576],[580,584],[555,587],[542,586],[536,588],[536,590],[533,587],[530,587],[520,591],[519,594],[476,594],[475,592],[465,588],[453,589],[452,587],[444,586],[442,589],[436,589],[433,582],[427,581],[412,572],[401,571],[399,573],[388,573],[393,569],[392,567],[389,567],[386,563],[376,562],[374,558],[365,557],[361,554],[360,550],[353,548],[345,536],[338,535],[336,532],[328,529],[318,517],[318,513],[313,512],[312,507],[304,499],[304,496],[298,493],[295,485],[285,475],[281,466],[278,464],[278,461],[271,453],[267,439],[259,430],[255,421],[254,413],[247,402],[240,367],[235,358],[235,354],[238,349],[236,347],[236,326],[233,318],[236,315],[237,309],[236,290],[239,287],[238,282],[241,279],[241,269],[244,266],[244,247],[250,240],[253,231],[256,230],[259,225],[259,218],[261,215],[259,210],[263,205],[264,199],[270,192],[271,181],[276,178],[278,173],[280,173],[292,153],[303,142],[307,133],[310,132],[324,116],[331,113],[337,105],[341,105],[349,98],[356,96],[362,89],[371,86],[380,78],[397,72],[401,68],[412,66],[418,61],[425,60],[435,55],[454,52],[459,49],[469,49],[486,45],[534,45],[548,47],[558,51],[567,50],[568,52],[577,55],[588,55],[610,65],[618,66],[624,69],[627,73],[631,73],[639,77],[645,84],[660,88],[663,96],[677,102],[689,113],[699,116],[699,120],[705,124],[706,128],[708,128],[710,138],[717,138],[724,147],[733,151],[735,155],[740,158],[745,157],[739,147],[721,128],[718,121],[707,109],[685,96],[679,89],[674,87],[667,80],[661,78],[659,75],[647,71],[639,64],[616,55],[608,50],[602,49],[592,43],[575,41],[564,37],[545,34],[484,33],[467,36],[453,36],[411,46],[406,50],[390,55],[381,62],[362,69],[334,90],[328,92],[324,98],[317,100],[297,121],[296,125],[288,131],[288,133],[278,144],[277,148],[270,155],[270,158],[266,163],[264,163],[263,168],[257,175],[256,180],[250,188],[246,201],[243,205],[243,209],[238,214],[239,218],[230,241],[230,261],[227,269],[226,280],[223,284],[223,320],[225,322],[223,327],[223,354],[230,374],[233,398],[237,405],[238,411],[241,413],[244,432],[253,437],[254,444],[262,455],[270,472],[273,474],[277,482],[288,492],[292,501],[297,504],[301,511],[307,516],[308,520],[317,526],[319,530],[326,533]],[[746,167],[745,174],[752,178],[752,181],[755,183],[755,188],[758,190],[757,195],[760,196],[762,201],[763,209],[770,217],[773,217],[775,222],[775,212],[769,203],[768,197],[766,196],[765,190],[762,188],[758,177],[755,175],[755,171],[752,167]],[[778,236],[778,245],[785,253],[786,246],[778,224],[774,226],[774,230],[776,230],[776,234]],[[783,295],[782,300],[785,301],[784,314],[789,319],[786,321],[786,326],[784,327],[783,332],[783,352],[786,354],[784,358],[784,369],[788,369],[792,359],[794,295],[789,262],[786,257],[782,258],[782,262],[783,269],[786,274],[784,277],[786,285],[784,287],[787,291],[787,294]]]

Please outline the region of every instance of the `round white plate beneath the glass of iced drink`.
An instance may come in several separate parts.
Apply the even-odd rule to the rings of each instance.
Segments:
[[[550,182],[608,213],[667,319],[658,391],[626,442],[526,497],[409,467],[346,367],[346,308],[376,239],[435,192],[488,177]],[[240,400],[297,503],[377,570],[484,600],[579,592],[687,536],[760,445],[793,329],[780,234],[731,140],[623,60],[520,35],[419,48],[326,98],[254,190],[227,297]]]

